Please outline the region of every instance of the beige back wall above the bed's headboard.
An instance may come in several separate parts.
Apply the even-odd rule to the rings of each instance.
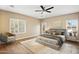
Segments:
[[[71,19],[78,19],[78,24],[79,24],[79,12],[47,18],[44,19],[42,23],[43,22],[47,23],[47,29],[49,28],[66,29],[66,20],[71,20]]]

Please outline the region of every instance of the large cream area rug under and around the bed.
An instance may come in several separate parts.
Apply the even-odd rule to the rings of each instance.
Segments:
[[[38,42],[36,42],[37,38],[26,40],[21,42],[23,46],[28,48],[35,54],[72,54],[78,53],[78,48],[72,44],[64,43],[60,50],[52,49],[48,46],[44,46]]]

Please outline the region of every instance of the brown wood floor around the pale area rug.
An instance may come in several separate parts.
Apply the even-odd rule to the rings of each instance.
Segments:
[[[16,41],[14,43],[0,45],[0,54],[33,54],[30,49],[22,45],[20,42],[21,41]],[[68,41],[68,43],[79,46],[79,44],[75,42]]]

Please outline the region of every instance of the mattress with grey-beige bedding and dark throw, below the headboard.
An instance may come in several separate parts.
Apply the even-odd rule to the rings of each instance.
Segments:
[[[38,36],[36,41],[51,48],[60,48],[62,47],[65,40],[65,35],[50,35],[45,33]]]

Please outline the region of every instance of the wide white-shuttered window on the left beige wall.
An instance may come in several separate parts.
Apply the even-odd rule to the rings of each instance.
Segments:
[[[10,32],[13,34],[26,33],[26,21],[23,19],[10,18]]]

